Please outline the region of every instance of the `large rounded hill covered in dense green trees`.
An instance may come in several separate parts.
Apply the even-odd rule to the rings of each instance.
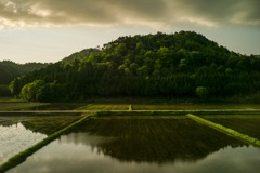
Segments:
[[[216,97],[260,93],[260,57],[229,51],[193,31],[127,36],[17,78],[27,101],[90,97]]]

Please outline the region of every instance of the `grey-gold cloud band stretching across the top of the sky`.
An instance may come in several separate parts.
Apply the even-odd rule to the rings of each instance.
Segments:
[[[0,0],[0,26],[260,26],[259,0]]]

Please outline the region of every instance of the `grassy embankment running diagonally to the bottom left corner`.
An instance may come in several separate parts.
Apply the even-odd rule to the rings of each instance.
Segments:
[[[91,115],[90,115],[91,116]],[[48,136],[47,138],[44,138],[43,141],[39,142],[38,144],[34,145],[32,147],[13,156],[12,158],[10,158],[5,163],[3,163],[2,165],[0,165],[0,173],[5,172],[14,167],[16,167],[17,164],[24,162],[26,160],[26,158],[28,158],[29,156],[31,156],[34,152],[36,152],[37,150],[39,150],[40,148],[42,148],[43,146],[48,145],[49,143],[51,143],[52,141],[56,139],[58,136],[61,136],[63,133],[69,131],[72,128],[74,128],[75,125],[78,125],[79,123],[83,122],[86,119],[88,119],[90,116],[84,116],[83,118],[81,118],[80,120],[70,123],[69,125],[67,125],[66,128],[53,133],[52,135]],[[94,116],[94,114],[92,115]]]

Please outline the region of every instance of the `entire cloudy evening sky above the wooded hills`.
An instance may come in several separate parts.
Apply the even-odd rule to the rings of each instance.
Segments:
[[[259,0],[0,0],[0,61],[57,62],[120,36],[193,30],[260,54]]]

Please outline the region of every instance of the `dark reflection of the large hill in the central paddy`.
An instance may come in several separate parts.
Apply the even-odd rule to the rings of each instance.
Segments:
[[[69,143],[89,145],[120,161],[196,161],[221,148],[245,145],[185,118],[91,119],[74,132],[80,133],[70,135]]]

